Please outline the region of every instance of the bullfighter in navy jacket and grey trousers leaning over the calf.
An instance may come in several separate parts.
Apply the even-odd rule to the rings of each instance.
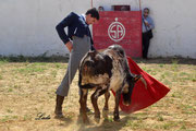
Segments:
[[[88,50],[95,49],[88,25],[98,20],[99,13],[96,8],[93,8],[82,15],[71,12],[56,26],[59,37],[71,52],[66,73],[56,92],[54,114],[57,118],[63,117],[62,104],[64,97],[68,96],[70,84],[78,69],[81,59]],[[64,31],[65,27],[68,27],[68,34]]]

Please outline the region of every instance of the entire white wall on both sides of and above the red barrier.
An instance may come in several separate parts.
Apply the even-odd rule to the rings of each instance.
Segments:
[[[1,56],[65,56],[68,49],[57,35],[56,25],[71,11],[85,13],[91,0],[0,0]],[[138,0],[94,0],[94,5],[111,10],[113,4]],[[196,58],[195,0],[142,0],[151,9],[156,28],[150,57]]]

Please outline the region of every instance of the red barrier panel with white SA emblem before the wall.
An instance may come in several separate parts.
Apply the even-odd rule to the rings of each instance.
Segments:
[[[142,57],[142,12],[140,11],[102,11],[100,20],[93,25],[96,49],[110,45],[121,45],[127,56]]]

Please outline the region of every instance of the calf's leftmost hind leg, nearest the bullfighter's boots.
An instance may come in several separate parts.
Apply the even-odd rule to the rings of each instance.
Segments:
[[[79,104],[81,104],[81,112],[82,112],[82,117],[83,117],[83,122],[87,123],[88,121],[88,117],[86,115],[86,100],[87,100],[87,90],[83,88],[81,90],[81,98],[79,98]]]

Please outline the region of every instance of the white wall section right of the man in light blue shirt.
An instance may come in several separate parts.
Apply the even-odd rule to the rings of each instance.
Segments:
[[[149,55],[196,58],[196,0],[146,0],[144,4],[152,10],[156,23]]]

